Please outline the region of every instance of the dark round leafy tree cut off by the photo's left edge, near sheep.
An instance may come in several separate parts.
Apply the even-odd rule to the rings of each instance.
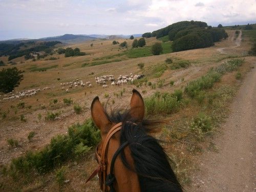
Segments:
[[[0,92],[9,93],[23,80],[23,71],[16,67],[0,71]]]

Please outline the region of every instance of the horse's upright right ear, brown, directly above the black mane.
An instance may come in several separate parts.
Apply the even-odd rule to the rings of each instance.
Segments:
[[[144,101],[140,93],[133,89],[133,95],[131,98],[131,117],[136,121],[142,121],[145,114]]]

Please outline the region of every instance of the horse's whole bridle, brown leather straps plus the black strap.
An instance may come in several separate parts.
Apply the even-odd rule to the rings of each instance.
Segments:
[[[98,166],[97,169],[94,170],[94,172],[91,174],[91,176],[86,181],[86,183],[87,183],[94,176],[96,176],[98,174],[100,188],[103,192],[107,191],[106,185],[108,185],[110,187],[111,192],[115,191],[115,189],[114,189],[115,176],[113,174],[114,164],[115,164],[116,158],[119,155],[119,153],[123,150],[123,148],[125,146],[127,146],[129,144],[128,141],[126,141],[126,142],[124,142],[123,144],[121,144],[119,146],[119,148],[117,149],[117,151],[115,152],[115,154],[114,154],[114,156],[111,160],[110,173],[109,173],[109,175],[107,175],[107,173],[106,173],[107,172],[106,157],[107,157],[107,154],[108,154],[109,142],[110,142],[110,139],[113,137],[113,135],[115,133],[117,133],[118,131],[120,131],[121,128],[122,128],[122,122],[117,123],[116,125],[114,125],[110,129],[109,133],[106,135],[106,138],[103,142],[102,150],[101,150],[101,156],[98,154],[99,145],[97,146],[95,154],[96,154],[96,160],[97,160],[99,166]]]

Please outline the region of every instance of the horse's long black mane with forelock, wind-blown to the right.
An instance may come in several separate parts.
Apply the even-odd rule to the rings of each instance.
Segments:
[[[148,135],[160,121],[137,122],[129,115],[129,110],[112,111],[108,117],[112,122],[123,123],[120,145],[129,142],[136,169],[133,171],[138,174],[141,191],[182,191],[162,146],[157,139]],[[123,151],[120,156],[123,164],[132,169]]]

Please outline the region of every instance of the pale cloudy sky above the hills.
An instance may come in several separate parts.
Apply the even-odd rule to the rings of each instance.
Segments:
[[[131,35],[182,20],[256,23],[256,0],[0,0],[0,40],[63,34]]]

